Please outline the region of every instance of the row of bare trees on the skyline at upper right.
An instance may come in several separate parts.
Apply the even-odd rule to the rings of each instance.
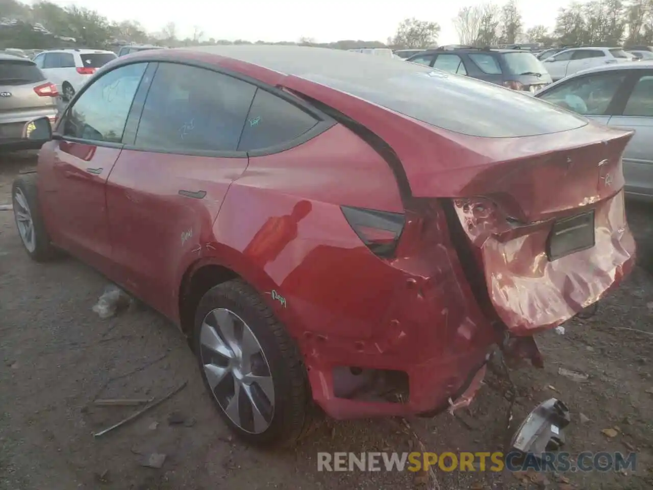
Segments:
[[[461,44],[493,46],[518,42],[620,46],[653,44],[653,0],[572,1],[558,10],[556,25],[524,29],[515,0],[462,7],[453,19]]]

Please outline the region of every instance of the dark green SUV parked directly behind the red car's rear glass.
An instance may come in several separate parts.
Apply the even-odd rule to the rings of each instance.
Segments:
[[[471,76],[513,90],[535,92],[552,82],[542,62],[525,50],[443,46],[411,56],[406,61]]]

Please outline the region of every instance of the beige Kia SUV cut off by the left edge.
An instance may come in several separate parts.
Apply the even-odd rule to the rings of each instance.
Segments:
[[[57,87],[29,59],[0,54],[0,150],[29,150],[40,143],[24,140],[27,123],[57,115]]]

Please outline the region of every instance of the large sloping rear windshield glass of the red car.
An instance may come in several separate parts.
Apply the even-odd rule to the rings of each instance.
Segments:
[[[530,55],[532,57],[532,55]],[[403,64],[402,64],[403,65]],[[569,131],[585,118],[515,90],[406,63],[411,71],[382,76],[351,73],[302,78],[359,97],[405,116],[464,135],[503,138]]]

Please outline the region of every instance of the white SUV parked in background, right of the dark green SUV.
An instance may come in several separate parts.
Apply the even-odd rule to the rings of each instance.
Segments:
[[[544,63],[551,78],[556,81],[588,68],[632,60],[633,56],[622,48],[584,47],[563,50],[545,59]]]

